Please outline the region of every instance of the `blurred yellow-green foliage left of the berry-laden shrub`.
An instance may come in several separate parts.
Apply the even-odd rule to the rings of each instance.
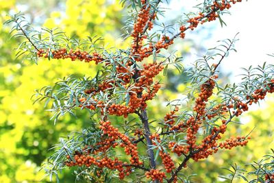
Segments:
[[[16,8],[16,3],[23,2],[0,1],[1,26],[6,14]],[[121,27],[119,11],[119,1],[69,0],[66,1],[66,12],[52,12],[43,27],[60,27],[66,35],[75,38],[102,36],[105,39],[98,42],[99,46],[123,46],[128,42],[108,33],[120,34],[116,33]],[[14,53],[12,49],[17,43],[9,39],[8,31],[9,27],[0,31],[3,47],[0,51],[0,182],[40,182],[44,175],[43,171],[38,171],[40,163],[51,153],[47,149],[57,143],[60,136],[81,130],[88,117],[64,117],[53,126],[53,121],[49,121],[51,114],[45,112],[42,103],[33,104],[31,97],[36,89],[53,86],[58,78],[67,75],[95,76],[97,66],[70,60],[40,59],[38,65],[15,60],[11,52]],[[68,181],[74,182],[70,176],[64,177],[64,182]]]

